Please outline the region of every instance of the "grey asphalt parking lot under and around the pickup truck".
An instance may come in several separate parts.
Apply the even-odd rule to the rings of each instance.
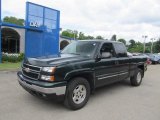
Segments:
[[[97,89],[78,111],[31,96],[19,86],[15,72],[0,72],[0,120],[29,119],[160,120],[160,65],[148,67],[140,87],[126,80]]]

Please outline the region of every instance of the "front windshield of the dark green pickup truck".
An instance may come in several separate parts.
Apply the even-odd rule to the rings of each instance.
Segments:
[[[95,41],[74,41],[62,50],[62,54],[77,54],[83,56],[93,56],[98,46]]]

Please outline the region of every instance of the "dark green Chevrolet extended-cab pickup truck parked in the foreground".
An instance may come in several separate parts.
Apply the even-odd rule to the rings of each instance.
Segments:
[[[20,85],[29,93],[58,98],[80,109],[97,87],[130,78],[139,86],[147,58],[127,56],[123,43],[106,40],[75,41],[59,56],[25,58],[18,72]]]

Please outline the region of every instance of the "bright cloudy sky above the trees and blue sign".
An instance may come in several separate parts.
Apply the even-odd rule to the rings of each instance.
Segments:
[[[60,10],[63,30],[127,41],[160,37],[160,0],[2,0],[2,16],[25,18],[26,1]]]

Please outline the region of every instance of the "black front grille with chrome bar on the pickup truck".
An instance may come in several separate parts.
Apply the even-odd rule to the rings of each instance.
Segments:
[[[29,79],[38,80],[40,75],[41,67],[33,66],[23,63],[22,74],[24,77]]]

